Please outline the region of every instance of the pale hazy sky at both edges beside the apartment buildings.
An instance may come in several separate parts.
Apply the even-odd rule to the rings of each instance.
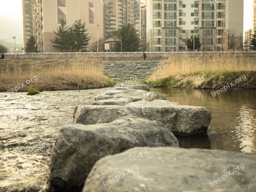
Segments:
[[[244,0],[244,30],[252,28],[252,2]],[[16,36],[16,43],[22,43],[21,14],[21,0],[0,0],[0,40],[12,42]]]

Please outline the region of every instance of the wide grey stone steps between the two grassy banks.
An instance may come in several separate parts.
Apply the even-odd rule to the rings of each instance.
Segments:
[[[104,75],[114,81],[125,81],[136,76],[137,80],[151,76],[160,61],[105,61]]]

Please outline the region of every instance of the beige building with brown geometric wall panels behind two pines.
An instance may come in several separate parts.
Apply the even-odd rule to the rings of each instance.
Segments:
[[[101,1],[36,0],[33,17],[34,36],[37,38],[39,52],[59,52],[52,46],[50,40],[55,38],[53,31],[59,28],[61,18],[67,21],[67,26],[72,26],[76,19],[85,22],[85,27],[88,28],[87,33],[92,37],[91,42],[97,40],[98,31],[99,38],[103,37],[103,4]]]

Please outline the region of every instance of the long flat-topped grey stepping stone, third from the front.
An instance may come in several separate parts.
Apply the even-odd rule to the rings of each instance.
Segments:
[[[161,121],[175,135],[207,132],[211,110],[205,107],[182,106],[167,100],[137,101],[126,106],[77,106],[74,123],[109,123],[120,117],[136,116]]]

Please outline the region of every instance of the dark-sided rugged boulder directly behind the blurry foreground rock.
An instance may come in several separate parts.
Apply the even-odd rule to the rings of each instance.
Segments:
[[[51,156],[50,188],[81,191],[96,161],[139,146],[178,147],[178,140],[161,122],[132,116],[106,124],[65,125]]]

